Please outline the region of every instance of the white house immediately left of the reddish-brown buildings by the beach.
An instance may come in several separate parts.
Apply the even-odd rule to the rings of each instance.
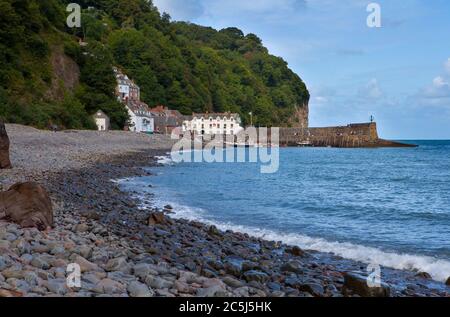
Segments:
[[[131,101],[126,105],[130,122],[128,129],[133,132],[154,133],[155,119],[150,108],[143,102]]]

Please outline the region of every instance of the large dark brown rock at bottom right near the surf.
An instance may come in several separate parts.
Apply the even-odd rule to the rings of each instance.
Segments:
[[[343,294],[347,291],[362,297],[390,297],[391,289],[388,285],[381,283],[380,287],[370,287],[367,278],[357,273],[346,273],[344,275]]]

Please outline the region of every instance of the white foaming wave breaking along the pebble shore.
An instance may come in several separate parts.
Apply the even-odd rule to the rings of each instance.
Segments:
[[[450,262],[433,258],[430,256],[402,254],[385,252],[383,250],[357,245],[347,242],[333,242],[322,238],[314,238],[301,234],[283,234],[263,228],[253,228],[249,226],[211,221],[205,217],[206,211],[200,208],[191,208],[177,204],[173,201],[156,201],[157,205],[170,204],[174,207],[174,218],[200,221],[207,225],[215,225],[219,229],[226,231],[247,233],[251,236],[263,238],[265,240],[282,241],[288,245],[297,245],[305,250],[313,250],[331,253],[345,259],[360,261],[367,264],[378,264],[398,270],[428,272],[434,280],[445,282],[450,276]]]

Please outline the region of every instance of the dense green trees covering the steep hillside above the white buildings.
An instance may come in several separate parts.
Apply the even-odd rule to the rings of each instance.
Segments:
[[[283,125],[309,100],[300,77],[255,34],[171,22],[148,0],[77,1],[82,27],[68,29],[71,2],[0,0],[0,115],[7,120],[93,128],[90,115],[101,109],[123,128],[128,115],[114,96],[112,66],[136,81],[149,105],[184,114],[232,111],[249,122],[253,112],[258,125]],[[80,68],[78,87],[58,100],[46,93],[55,46]]]

